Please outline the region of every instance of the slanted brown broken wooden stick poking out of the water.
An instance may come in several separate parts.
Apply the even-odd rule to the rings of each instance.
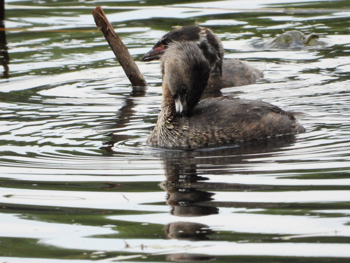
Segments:
[[[130,55],[129,50],[121,41],[118,34],[114,31],[102,8],[98,6],[93,9],[92,16],[95,20],[96,26],[102,31],[114,55],[116,55],[120,66],[124,69],[126,76],[131,82],[131,85],[133,87],[147,87],[148,85],[144,79],[144,76],[142,76],[139,68]]]

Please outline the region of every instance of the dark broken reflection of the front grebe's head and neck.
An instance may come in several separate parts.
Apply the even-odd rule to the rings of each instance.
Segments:
[[[174,161],[174,162],[173,162]],[[166,162],[166,180],[160,187],[167,192],[166,204],[171,207],[170,213],[180,217],[206,216],[218,214],[219,209],[208,204],[214,200],[214,193],[197,190],[198,182],[209,180],[197,175],[196,165],[182,166],[177,160]],[[165,225],[165,234],[170,239],[201,241],[209,240],[214,233],[208,225],[178,221]],[[210,261],[214,257],[178,253],[167,255],[169,261]]]

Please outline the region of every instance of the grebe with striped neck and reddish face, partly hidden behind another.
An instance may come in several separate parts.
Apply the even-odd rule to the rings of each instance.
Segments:
[[[237,87],[255,83],[262,72],[248,66],[238,59],[224,59],[224,47],[220,39],[209,29],[199,26],[175,28],[166,33],[147,52],[141,61],[160,59],[168,45],[173,41],[191,41],[197,43],[210,63],[209,88]]]

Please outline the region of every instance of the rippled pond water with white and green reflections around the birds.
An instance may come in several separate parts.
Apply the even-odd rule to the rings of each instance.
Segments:
[[[349,1],[188,2],[6,1],[1,262],[349,262]],[[97,32],[98,5],[148,89],[130,88]],[[158,62],[140,58],[194,23],[218,34],[225,57],[264,70],[224,94],[303,112],[307,133],[147,147],[161,78]],[[290,30],[327,45],[251,44]]]

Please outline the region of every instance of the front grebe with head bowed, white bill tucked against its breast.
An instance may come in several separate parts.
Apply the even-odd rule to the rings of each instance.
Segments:
[[[153,147],[200,148],[305,131],[291,113],[270,103],[229,96],[200,101],[210,65],[194,42],[171,43],[161,72],[161,112],[147,139]]]

